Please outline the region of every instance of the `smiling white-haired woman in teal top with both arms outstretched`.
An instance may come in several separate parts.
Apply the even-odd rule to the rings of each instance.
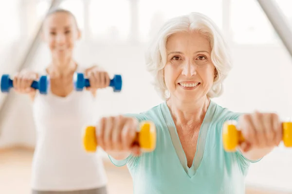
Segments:
[[[99,145],[117,166],[127,164],[135,194],[244,194],[249,164],[281,140],[274,113],[233,113],[212,97],[222,93],[231,69],[226,43],[208,17],[191,13],[166,22],[150,44],[147,69],[165,102],[140,114],[103,117]],[[133,145],[139,122],[153,121],[157,144]],[[222,126],[238,121],[245,143],[225,152]]]

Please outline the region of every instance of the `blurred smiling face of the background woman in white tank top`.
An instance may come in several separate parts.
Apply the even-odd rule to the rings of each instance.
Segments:
[[[45,20],[43,39],[53,57],[71,57],[75,41],[80,35],[75,19],[68,13],[54,13]]]

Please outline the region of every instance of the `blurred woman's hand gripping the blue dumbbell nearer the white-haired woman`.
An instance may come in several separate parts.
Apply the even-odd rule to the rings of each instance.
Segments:
[[[97,65],[86,69],[85,75],[90,82],[90,87],[87,90],[96,91],[97,89],[106,88],[110,85],[109,74]]]

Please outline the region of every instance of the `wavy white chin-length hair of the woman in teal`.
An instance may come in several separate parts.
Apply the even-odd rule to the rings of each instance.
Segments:
[[[211,46],[211,61],[216,67],[214,84],[208,97],[219,97],[223,92],[222,82],[232,68],[227,44],[217,25],[207,16],[191,13],[168,20],[152,39],[146,52],[146,69],[154,76],[154,86],[159,95],[166,100],[169,92],[164,82],[166,64],[166,42],[171,34],[177,32],[200,32],[205,35]]]

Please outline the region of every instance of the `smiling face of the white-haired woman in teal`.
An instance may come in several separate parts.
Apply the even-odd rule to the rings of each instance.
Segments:
[[[215,75],[208,39],[198,32],[172,34],[166,55],[164,81],[170,96],[184,102],[206,97]]]

